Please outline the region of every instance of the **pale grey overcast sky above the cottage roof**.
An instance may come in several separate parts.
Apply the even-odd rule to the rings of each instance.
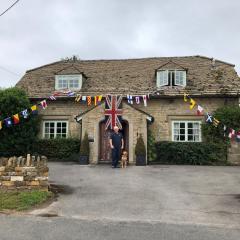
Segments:
[[[0,13],[15,0],[0,0]],[[20,0],[0,17],[0,87],[77,55],[205,55],[240,72],[239,0]]]

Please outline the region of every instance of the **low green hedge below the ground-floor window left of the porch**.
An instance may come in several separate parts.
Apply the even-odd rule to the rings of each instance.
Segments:
[[[80,150],[80,140],[67,139],[39,139],[37,140],[34,153],[47,156],[52,160],[77,161]]]

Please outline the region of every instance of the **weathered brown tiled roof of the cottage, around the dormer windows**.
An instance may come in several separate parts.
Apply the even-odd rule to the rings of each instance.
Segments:
[[[157,69],[186,69],[187,86],[156,87]],[[177,96],[232,95],[240,93],[240,79],[234,65],[204,56],[159,57],[119,60],[68,60],[28,70],[17,87],[30,98],[44,98],[54,92],[56,74],[82,73],[86,80],[82,94],[157,94]]]

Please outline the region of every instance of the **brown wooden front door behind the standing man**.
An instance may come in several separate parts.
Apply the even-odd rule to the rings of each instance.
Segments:
[[[124,139],[124,149],[128,151],[129,146],[129,128],[128,122],[122,122],[122,130],[120,132],[123,135]],[[99,142],[99,163],[111,163],[112,162],[112,151],[109,143],[109,139],[111,136],[112,130],[105,130],[105,121],[100,122],[99,125],[99,134],[100,134],[100,142]]]

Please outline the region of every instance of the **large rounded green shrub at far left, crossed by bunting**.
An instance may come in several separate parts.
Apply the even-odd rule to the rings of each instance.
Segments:
[[[0,121],[29,109],[31,103],[26,93],[18,88],[0,89]],[[0,156],[23,155],[30,152],[39,131],[39,117],[20,116],[20,123],[0,130]]]

